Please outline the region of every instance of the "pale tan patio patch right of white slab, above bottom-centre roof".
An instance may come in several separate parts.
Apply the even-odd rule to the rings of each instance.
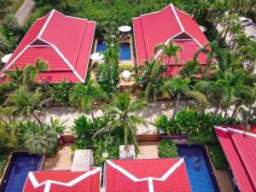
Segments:
[[[158,159],[158,143],[138,143],[137,159]]]

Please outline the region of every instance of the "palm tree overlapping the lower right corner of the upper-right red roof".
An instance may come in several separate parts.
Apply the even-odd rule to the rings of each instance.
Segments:
[[[202,78],[206,79],[208,76],[208,73],[210,72],[210,69],[212,67],[213,60],[216,59],[218,62],[223,62],[224,61],[224,54],[225,50],[223,48],[220,48],[218,46],[217,41],[212,41],[206,44],[203,48],[199,49],[195,55],[194,55],[194,60],[200,55],[201,53],[206,53],[207,54],[207,67],[204,70],[202,74]]]

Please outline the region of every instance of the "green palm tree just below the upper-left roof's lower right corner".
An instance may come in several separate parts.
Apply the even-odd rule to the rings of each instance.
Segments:
[[[90,113],[94,126],[96,126],[96,119],[93,110],[96,100],[100,99],[108,99],[108,96],[92,79],[87,84],[75,84],[71,93],[71,101],[78,104],[85,113]]]

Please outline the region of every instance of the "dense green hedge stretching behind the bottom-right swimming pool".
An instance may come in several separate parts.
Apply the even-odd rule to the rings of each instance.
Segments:
[[[157,123],[156,123],[157,122]],[[154,125],[164,127],[166,134],[186,133],[190,143],[216,144],[214,125],[237,125],[238,121],[222,115],[215,116],[212,113],[198,113],[195,109],[182,109],[174,119],[160,117]]]

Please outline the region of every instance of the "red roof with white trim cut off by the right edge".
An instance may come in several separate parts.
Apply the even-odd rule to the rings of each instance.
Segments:
[[[256,125],[244,131],[242,125],[215,126],[219,143],[229,161],[241,192],[256,191]]]

